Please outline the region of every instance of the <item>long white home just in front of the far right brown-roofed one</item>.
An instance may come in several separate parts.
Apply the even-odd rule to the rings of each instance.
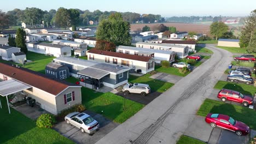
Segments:
[[[136,43],[136,47],[141,47],[145,49],[156,49],[165,51],[174,51],[179,58],[184,58],[188,56],[189,47],[183,45],[172,45],[172,44],[155,44],[155,43]]]

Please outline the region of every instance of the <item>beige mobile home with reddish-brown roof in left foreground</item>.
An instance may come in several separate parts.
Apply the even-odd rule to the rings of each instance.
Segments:
[[[54,115],[82,101],[81,86],[49,79],[29,69],[0,63],[0,80],[2,96],[14,94],[13,103],[30,97]]]

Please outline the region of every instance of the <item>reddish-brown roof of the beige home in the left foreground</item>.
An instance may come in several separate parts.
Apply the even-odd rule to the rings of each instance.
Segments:
[[[46,75],[37,73],[36,71],[21,67],[17,68],[16,66],[4,63],[0,63],[0,73],[53,95],[59,94],[69,86],[75,86],[65,81],[49,79]]]

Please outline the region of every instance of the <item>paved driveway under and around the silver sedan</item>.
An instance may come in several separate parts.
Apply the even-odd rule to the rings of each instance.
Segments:
[[[80,129],[74,127],[71,124],[67,124],[65,121],[58,123],[55,125],[54,129],[58,131],[63,136],[71,139],[75,143],[95,143],[100,140],[103,136],[108,134],[111,130],[117,127],[119,124],[110,121],[107,118],[104,118],[100,114],[96,114],[94,112],[90,112],[88,110],[85,111],[90,116],[92,116],[98,123],[100,123],[100,130],[98,130],[95,134],[89,135],[87,133],[82,133]]]

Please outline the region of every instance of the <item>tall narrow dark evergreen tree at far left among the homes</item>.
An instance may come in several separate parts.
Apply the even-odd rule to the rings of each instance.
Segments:
[[[16,32],[16,46],[20,47],[20,51],[27,53],[27,46],[25,44],[26,32],[22,28],[18,28]]]

